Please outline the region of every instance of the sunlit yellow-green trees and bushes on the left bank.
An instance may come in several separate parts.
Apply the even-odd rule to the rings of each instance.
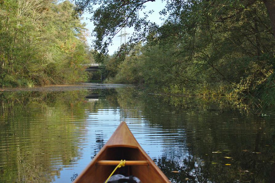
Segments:
[[[0,4],[0,86],[69,84],[87,80],[86,29],[69,1]]]

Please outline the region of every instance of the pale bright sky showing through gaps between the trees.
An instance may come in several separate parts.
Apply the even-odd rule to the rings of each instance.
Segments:
[[[161,0],[156,0],[155,2],[146,2],[145,3],[145,9],[142,11],[149,11],[149,10],[154,10],[154,12],[152,14],[149,15],[148,19],[151,21],[151,22],[155,22],[157,23],[158,25],[161,25],[161,23],[163,23],[163,18],[165,18],[164,16],[160,16],[159,12],[161,10],[164,9],[166,5],[166,2],[161,2]],[[143,13],[140,13],[140,16],[143,15]],[[94,25],[93,25],[93,22],[91,22],[89,19],[91,17],[90,14],[88,14],[87,12],[84,13],[82,15],[83,17],[83,20],[82,22],[85,22],[87,25],[86,25],[86,28],[89,30],[90,34],[92,33],[93,29],[94,29]],[[131,28],[126,28],[126,33],[129,33],[129,34],[132,34],[134,33],[134,28],[131,27]],[[118,36],[120,35],[120,33],[117,34]],[[119,46],[120,46],[120,41],[121,41],[121,38],[120,37],[114,37],[113,39],[113,45],[109,45],[108,47],[108,50],[109,50],[109,55],[112,55],[115,51],[118,50]],[[130,37],[130,35],[128,36]],[[95,37],[87,37],[87,41],[88,41],[88,44],[89,45],[92,45],[92,40],[95,39]],[[127,37],[126,37],[126,41],[127,41]]]

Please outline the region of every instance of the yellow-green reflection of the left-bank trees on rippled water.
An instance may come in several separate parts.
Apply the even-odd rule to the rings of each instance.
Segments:
[[[0,182],[52,182],[81,153],[86,91],[0,94]],[[71,123],[72,119],[76,123]]]

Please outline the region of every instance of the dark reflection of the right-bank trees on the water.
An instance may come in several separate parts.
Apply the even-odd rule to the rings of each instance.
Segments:
[[[235,109],[220,98],[148,95],[132,88],[116,91],[119,105],[132,109],[124,116],[162,128],[158,135],[175,135],[173,142],[162,138],[162,144],[173,145],[165,146],[165,154],[154,160],[172,182],[274,181],[274,118]]]

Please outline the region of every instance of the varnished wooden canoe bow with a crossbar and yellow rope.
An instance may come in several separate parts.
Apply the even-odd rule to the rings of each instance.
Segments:
[[[121,160],[126,160],[125,166],[118,168],[114,175],[122,174],[126,177],[133,175],[142,183],[170,183],[141,148],[125,122],[120,123],[108,142],[74,182],[103,183]]]

